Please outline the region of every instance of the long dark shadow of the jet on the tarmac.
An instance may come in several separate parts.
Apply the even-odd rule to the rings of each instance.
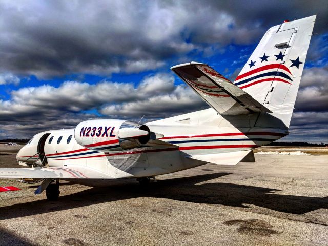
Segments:
[[[2,207],[0,220],[145,196],[245,209],[248,206],[244,204],[250,204],[291,214],[304,214],[328,208],[328,197],[281,195],[276,194],[275,192],[279,190],[275,189],[223,183],[219,180],[202,183],[229,174],[231,173],[212,173],[160,180],[150,183],[148,187],[141,187],[133,181],[106,188],[90,188],[60,196],[56,202],[49,202],[45,199]]]

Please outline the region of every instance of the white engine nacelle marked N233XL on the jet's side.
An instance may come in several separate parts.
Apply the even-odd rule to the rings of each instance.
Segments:
[[[108,152],[147,144],[151,132],[146,125],[118,119],[87,120],[74,129],[76,142],[88,149]]]

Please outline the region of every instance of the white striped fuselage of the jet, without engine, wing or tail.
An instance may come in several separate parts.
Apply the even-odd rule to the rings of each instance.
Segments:
[[[210,108],[149,122],[145,125],[164,137],[142,147],[120,151],[101,152],[83,147],[74,138],[74,129],[50,130],[36,134],[18,152],[17,160],[41,163],[44,156],[39,156],[38,145],[47,134],[44,155],[49,167],[80,165],[114,178],[147,177],[206,163],[188,158],[193,155],[251,150],[288,134],[286,129],[254,127],[252,116],[247,116],[248,120],[240,117],[240,121],[232,125]],[[101,143],[97,145],[101,147]]]

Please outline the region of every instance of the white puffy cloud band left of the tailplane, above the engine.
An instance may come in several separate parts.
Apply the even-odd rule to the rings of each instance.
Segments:
[[[43,85],[11,92],[0,100],[1,132],[29,137],[36,132],[75,127],[98,116],[83,111],[98,110],[105,118],[148,119],[169,117],[207,107],[187,86],[174,86],[174,77],[158,73],[133,83],[100,81],[91,85],[66,81],[59,87]],[[12,134],[12,135],[11,135]]]

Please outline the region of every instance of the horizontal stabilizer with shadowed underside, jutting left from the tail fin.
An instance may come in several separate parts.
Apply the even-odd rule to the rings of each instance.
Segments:
[[[171,70],[222,115],[271,112],[248,93],[203,63],[186,63]]]

